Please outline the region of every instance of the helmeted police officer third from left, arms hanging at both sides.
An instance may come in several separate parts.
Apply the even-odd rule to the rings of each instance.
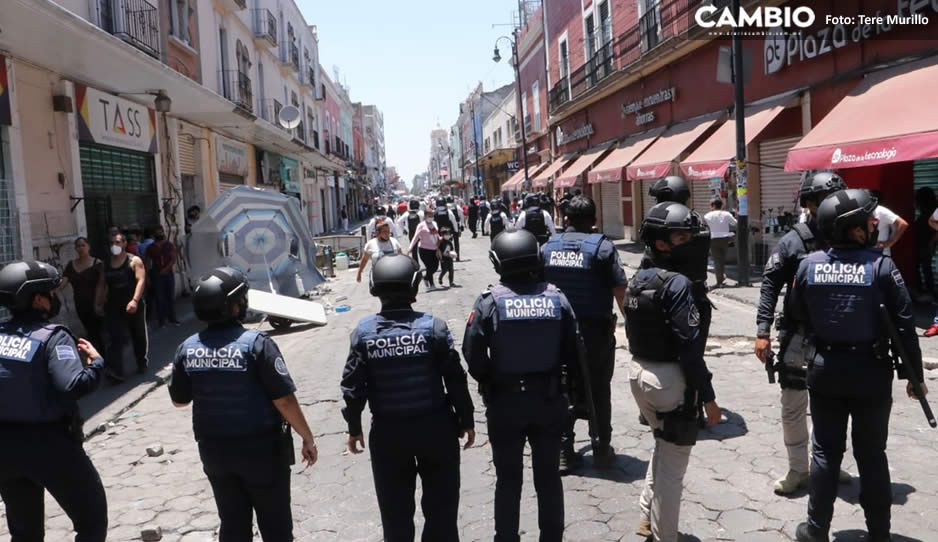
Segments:
[[[423,484],[425,542],[459,540],[459,438],[475,441],[466,372],[446,322],[416,312],[423,273],[406,256],[378,260],[371,294],[381,312],[352,331],[342,373],[348,450],[365,446],[361,415],[371,407],[371,469],[384,539],[414,540],[414,489]],[[445,385],[445,387],[444,387]]]

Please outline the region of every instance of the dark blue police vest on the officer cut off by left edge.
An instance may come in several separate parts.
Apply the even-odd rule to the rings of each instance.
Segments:
[[[54,422],[76,408],[74,400],[56,393],[49,378],[46,345],[60,329],[68,332],[41,322],[0,324],[0,422]]]

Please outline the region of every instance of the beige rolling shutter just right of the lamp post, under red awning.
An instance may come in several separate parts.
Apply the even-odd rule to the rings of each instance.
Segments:
[[[797,194],[801,185],[801,173],[782,169],[788,151],[801,141],[801,137],[789,137],[763,141],[759,144],[759,179],[761,191],[760,216],[780,216],[785,212],[797,216]],[[775,167],[773,167],[775,166]]]

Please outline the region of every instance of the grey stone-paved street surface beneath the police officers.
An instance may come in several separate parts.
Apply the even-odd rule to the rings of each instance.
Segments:
[[[418,298],[418,309],[430,310],[449,322],[457,343],[461,343],[464,321],[476,295],[496,278],[486,249],[486,240],[464,236],[465,258],[456,264],[456,281],[461,286],[421,292]],[[359,318],[378,308],[367,284],[354,281],[355,272],[339,272],[330,282],[333,293],[327,296],[334,305],[350,305],[351,311],[331,313],[325,327],[298,327],[277,336],[321,454],[312,468],[293,469],[298,540],[381,539],[369,454],[350,456],[344,452],[345,426],[340,414],[338,382],[349,332]],[[340,295],[347,299],[339,301]],[[722,295],[714,296],[714,302],[717,310],[707,361],[726,420],[705,431],[694,449],[686,479],[682,531],[688,533],[685,540],[789,541],[795,525],[804,518],[807,499],[804,493],[783,498],[771,490],[772,480],[784,473],[787,462],[779,426],[778,388],[766,382],[761,364],[751,354],[754,309]],[[196,329],[191,323],[187,327],[190,332]],[[588,459],[587,468],[579,475],[564,478],[568,540],[639,540],[632,533],[653,440],[647,428],[636,421],[638,410],[629,392],[629,355],[621,322],[617,335],[613,444],[618,464],[614,470],[597,471],[589,468]],[[935,376],[929,374],[928,380],[938,389]],[[490,540],[495,474],[484,409],[478,396],[474,397],[478,438],[476,446],[462,456],[459,521],[463,540]],[[918,405],[903,396],[899,384],[895,397],[890,446],[896,503],[893,525],[894,532],[904,535],[895,540],[936,541],[938,516],[933,511],[938,502],[938,473],[931,467],[938,446]],[[582,422],[578,430],[585,450],[587,435]],[[191,411],[174,408],[164,386],[151,390],[85,446],[107,489],[109,540],[139,540],[141,530],[150,526],[161,527],[165,541],[215,540],[218,519],[192,439]],[[162,447],[162,455],[149,457],[146,449],[151,446]],[[845,458],[844,466],[856,473],[851,457]],[[858,490],[854,482],[841,491],[835,540],[865,539]],[[522,539],[536,540],[537,507],[529,470],[521,509]],[[47,498],[46,513],[47,540],[67,540],[69,522],[51,498]],[[417,521],[419,526],[419,517]],[[5,540],[6,525],[0,523],[0,540]]]

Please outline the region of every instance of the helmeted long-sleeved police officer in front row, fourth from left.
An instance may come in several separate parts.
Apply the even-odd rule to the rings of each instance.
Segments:
[[[517,541],[525,441],[531,446],[540,540],[563,537],[560,440],[567,419],[566,381],[577,373],[582,342],[573,309],[542,282],[537,239],[525,230],[492,241],[501,276],[469,313],[463,355],[487,407],[495,463],[495,540]]]

